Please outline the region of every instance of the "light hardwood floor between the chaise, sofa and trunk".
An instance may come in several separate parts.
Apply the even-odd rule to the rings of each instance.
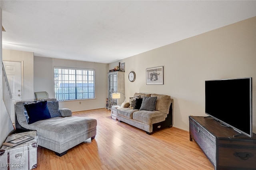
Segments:
[[[103,109],[73,112],[95,118],[97,135],[68,150],[62,157],[38,146],[34,170],[214,170],[189,132],[165,128],[152,135],[110,118]]]

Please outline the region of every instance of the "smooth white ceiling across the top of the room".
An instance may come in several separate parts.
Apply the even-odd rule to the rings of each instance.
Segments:
[[[111,63],[256,16],[256,1],[1,0],[2,47]]]

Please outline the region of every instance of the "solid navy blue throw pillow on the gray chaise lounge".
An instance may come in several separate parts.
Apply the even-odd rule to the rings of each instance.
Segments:
[[[50,112],[47,107],[47,101],[25,104],[24,107],[28,112],[28,124],[32,124],[39,120],[45,120],[51,118]]]

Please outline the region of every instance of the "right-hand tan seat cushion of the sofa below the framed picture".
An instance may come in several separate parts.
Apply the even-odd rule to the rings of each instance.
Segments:
[[[133,119],[138,120],[140,122],[144,122],[146,124],[155,124],[158,122],[162,122],[167,117],[167,114],[160,111],[148,111],[148,110],[140,110],[138,112],[133,113]]]

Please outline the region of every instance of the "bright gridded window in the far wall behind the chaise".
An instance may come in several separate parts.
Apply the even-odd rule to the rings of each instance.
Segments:
[[[57,100],[95,98],[94,69],[54,67]]]

